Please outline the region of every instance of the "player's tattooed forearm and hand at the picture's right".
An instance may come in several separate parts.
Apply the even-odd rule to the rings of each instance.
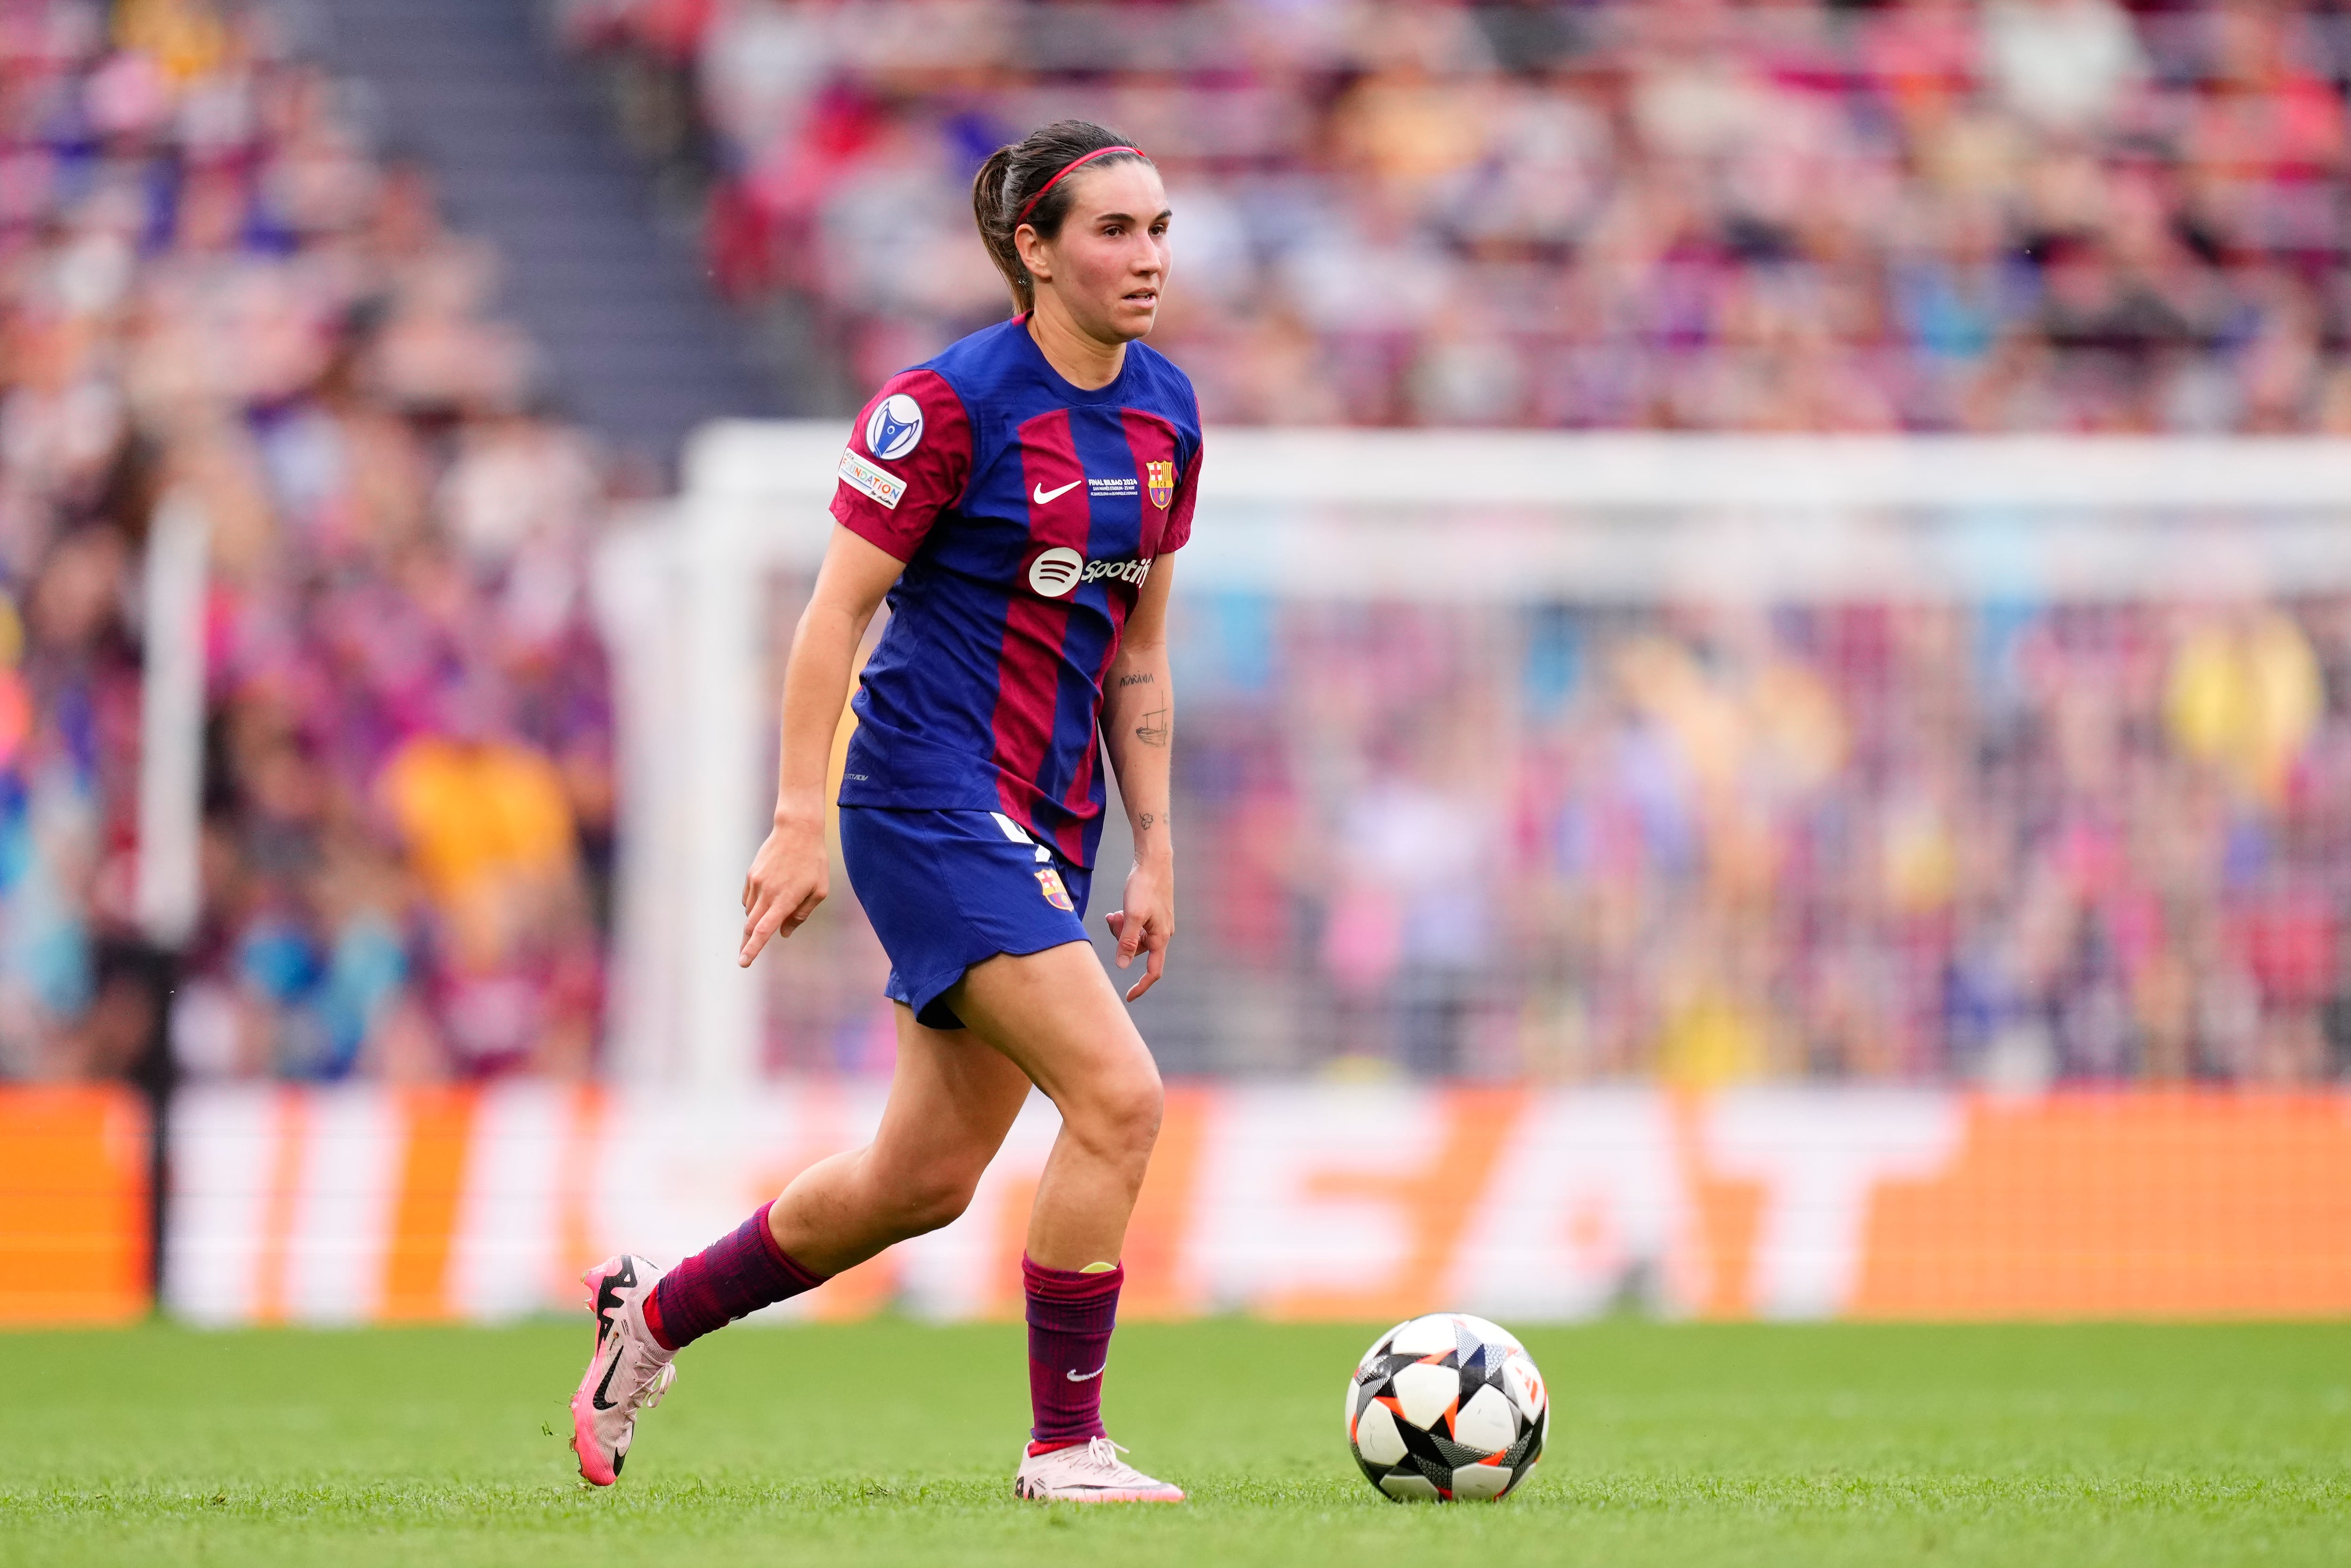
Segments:
[[[1176,741],[1176,686],[1168,679],[1173,581],[1176,557],[1161,552],[1136,592],[1119,656],[1103,682],[1103,743],[1110,748],[1110,769],[1119,776],[1126,820],[1136,830],[1126,898],[1110,912],[1119,969],[1143,954],[1143,978],[1128,987],[1128,1001],[1159,983],[1168,938],[1176,936],[1176,837],[1168,823],[1168,752]]]

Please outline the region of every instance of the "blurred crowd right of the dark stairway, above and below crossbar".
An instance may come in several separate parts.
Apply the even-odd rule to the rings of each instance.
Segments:
[[[2351,433],[2332,7],[548,14],[839,409],[1006,310],[971,169],[1086,115],[1166,174],[1211,421]],[[1178,1070],[2351,1065],[2351,607],[1194,595],[1178,665]],[[886,1048],[818,940],[778,1063]]]

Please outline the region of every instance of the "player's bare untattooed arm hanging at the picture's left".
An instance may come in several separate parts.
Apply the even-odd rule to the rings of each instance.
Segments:
[[[743,952],[750,966],[771,936],[792,936],[830,891],[825,776],[849,701],[849,675],[865,628],[905,569],[896,555],[849,529],[832,529],[809,609],[792,630],[783,668],[783,757],[776,769],[776,825],[743,877]]]

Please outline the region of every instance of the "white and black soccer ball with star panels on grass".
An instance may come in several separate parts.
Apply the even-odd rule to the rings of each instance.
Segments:
[[[1347,1448],[1399,1502],[1507,1497],[1549,1429],[1552,1401],[1526,1347],[1462,1312],[1396,1324],[1347,1380]]]

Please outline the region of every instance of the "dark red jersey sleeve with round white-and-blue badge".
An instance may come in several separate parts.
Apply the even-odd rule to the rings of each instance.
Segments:
[[[891,376],[858,414],[842,449],[832,517],[900,562],[971,482],[971,421],[945,376]]]

